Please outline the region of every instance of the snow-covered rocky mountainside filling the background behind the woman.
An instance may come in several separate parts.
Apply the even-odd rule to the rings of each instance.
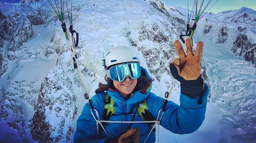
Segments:
[[[73,142],[87,101],[60,21],[42,1],[0,7],[0,142]],[[174,40],[186,31],[186,9],[159,0],[77,0],[72,12],[90,96],[104,82],[105,53],[121,45],[137,49],[154,93],[170,90],[168,64],[177,57]],[[204,42],[202,73],[211,87],[205,122],[189,135],[161,128],[160,142],[256,141],[255,26],[256,11],[245,7],[199,21],[193,40]],[[170,100],[179,104],[178,95],[177,83]]]

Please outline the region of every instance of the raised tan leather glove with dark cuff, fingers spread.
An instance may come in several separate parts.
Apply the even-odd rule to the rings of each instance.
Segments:
[[[186,39],[187,55],[179,40],[174,42],[179,59],[170,63],[171,75],[180,81],[182,94],[193,97],[202,93],[204,83],[201,77],[200,63],[202,60],[202,49],[204,43],[198,42],[195,54],[193,53],[192,40]]]

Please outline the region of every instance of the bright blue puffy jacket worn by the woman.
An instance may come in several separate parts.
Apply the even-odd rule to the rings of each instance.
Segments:
[[[142,70],[145,70],[142,68]],[[145,70],[146,72],[146,70]],[[148,73],[146,72],[148,75]],[[169,131],[176,134],[189,134],[201,126],[206,111],[208,86],[205,84],[202,104],[198,104],[199,96],[190,98],[180,94],[180,106],[173,101],[168,101],[166,111],[160,125]],[[111,116],[109,120],[114,121],[131,121],[133,115],[127,113],[130,109],[142,100],[147,101],[148,111],[157,118],[158,112],[163,108],[164,98],[156,96],[151,93],[151,86],[148,88],[145,94],[136,91],[129,99],[125,100],[117,91],[108,90],[107,93],[114,100],[115,115]],[[93,107],[99,113],[99,117],[102,120],[104,112],[104,95],[105,93],[99,93],[92,97]],[[96,121],[90,112],[91,107],[89,103],[86,103],[83,107],[82,114],[77,119],[77,129],[74,134],[74,142],[104,142],[107,138],[120,136],[124,132],[127,132],[129,123],[107,123],[104,124],[104,128],[107,131],[108,136],[102,131],[99,125],[99,136],[97,133]],[[136,111],[135,111],[136,112]],[[135,116],[135,121],[143,120],[141,116]],[[140,142],[144,142],[146,136],[151,131],[151,126],[146,123],[132,123],[132,128],[138,127],[140,131]],[[155,142],[155,132],[152,132],[146,142]]]

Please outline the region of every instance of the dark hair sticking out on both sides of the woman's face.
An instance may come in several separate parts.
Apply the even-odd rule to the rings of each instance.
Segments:
[[[151,82],[154,81],[151,77],[146,77],[145,71],[142,71],[141,76],[137,80],[138,80],[138,82],[133,90],[133,93],[135,93],[135,91],[141,90],[142,88],[148,87],[148,85],[150,85]],[[104,91],[107,91],[108,88],[115,90],[113,80],[108,80],[107,82],[108,82],[108,84],[99,83],[99,88],[97,88],[95,90],[95,93],[96,94],[102,93]]]

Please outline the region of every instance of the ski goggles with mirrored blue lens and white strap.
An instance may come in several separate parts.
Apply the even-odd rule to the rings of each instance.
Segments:
[[[136,80],[141,76],[141,66],[137,62],[121,63],[107,69],[106,75],[117,82],[123,82],[126,77]]]

